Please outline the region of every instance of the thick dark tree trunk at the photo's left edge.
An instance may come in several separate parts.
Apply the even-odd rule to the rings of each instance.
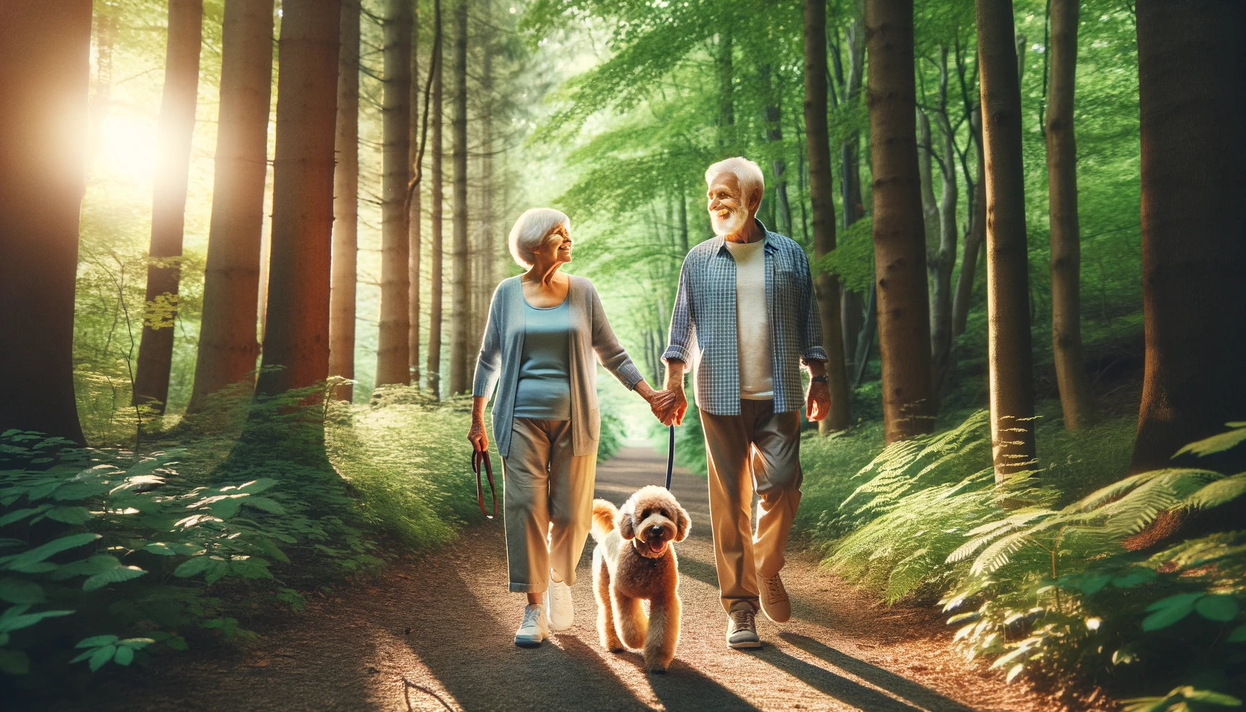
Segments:
[[[0,4],[0,433],[78,444],[74,286],[90,79],[91,2]]]

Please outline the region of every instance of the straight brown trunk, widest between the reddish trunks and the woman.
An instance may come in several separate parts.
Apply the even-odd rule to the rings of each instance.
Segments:
[[[376,385],[411,382],[411,2],[388,0],[381,99],[381,313]]]

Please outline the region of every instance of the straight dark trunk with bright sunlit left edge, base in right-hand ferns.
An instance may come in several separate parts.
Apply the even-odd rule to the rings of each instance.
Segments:
[[[1012,0],[977,0],[987,161],[987,360],[996,481],[1034,466],[1020,84]]]

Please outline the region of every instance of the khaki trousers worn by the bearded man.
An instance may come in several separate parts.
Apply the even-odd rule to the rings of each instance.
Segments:
[[[800,411],[775,413],[774,400],[740,400],[739,415],[700,411],[709,465],[709,517],[719,596],[730,612],[758,610],[756,572],[782,569],[800,504]],[[753,493],[756,534],[750,522]]]

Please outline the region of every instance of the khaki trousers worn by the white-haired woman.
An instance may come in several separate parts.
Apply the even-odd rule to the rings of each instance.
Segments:
[[[571,421],[515,418],[502,458],[511,591],[541,594],[549,569],[567,585],[593,522],[597,453],[571,454]]]

